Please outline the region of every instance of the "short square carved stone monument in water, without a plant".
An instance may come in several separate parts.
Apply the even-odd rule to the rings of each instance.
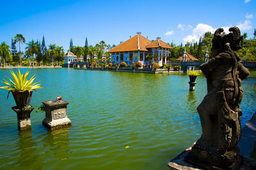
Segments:
[[[45,106],[45,118],[42,123],[48,129],[54,130],[71,126],[71,121],[67,117],[69,102],[61,100],[61,96],[58,96],[56,100],[43,101],[42,103]]]

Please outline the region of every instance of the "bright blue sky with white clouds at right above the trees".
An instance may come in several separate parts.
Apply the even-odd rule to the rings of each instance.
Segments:
[[[1,1],[0,42],[11,45],[16,34],[69,48],[105,41],[118,45],[140,31],[148,39],[161,37],[176,45],[196,41],[206,31],[238,26],[253,37],[256,0],[215,1]],[[228,32],[228,31],[227,31]],[[21,45],[24,50],[26,45]],[[19,46],[17,45],[17,48]]]

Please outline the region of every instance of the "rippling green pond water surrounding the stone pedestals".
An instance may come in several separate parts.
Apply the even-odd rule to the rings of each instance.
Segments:
[[[10,70],[0,69],[0,79]],[[19,132],[13,97],[6,100],[1,89],[0,169],[168,169],[201,134],[196,106],[206,94],[204,76],[189,92],[186,74],[29,71],[44,87],[33,93],[31,105],[61,95],[70,102],[72,127],[47,131],[38,113],[31,116],[31,131]],[[255,75],[243,81],[242,125],[256,111]]]

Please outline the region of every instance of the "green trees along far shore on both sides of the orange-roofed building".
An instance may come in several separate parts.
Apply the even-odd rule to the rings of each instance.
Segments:
[[[170,49],[170,61],[176,61],[177,58],[181,57],[184,49],[190,53],[196,59],[203,61],[205,51],[208,50],[209,56],[211,56],[212,48],[212,38],[213,34],[211,32],[205,32],[200,38],[199,42],[192,41],[187,42],[186,45],[175,45],[175,43],[168,43],[173,49]],[[255,62],[256,61],[256,29],[253,33],[253,38],[247,39],[248,34],[245,32],[243,34],[243,41],[241,42],[241,50],[237,53],[240,55],[242,61]],[[14,39],[12,39],[12,46],[10,47],[4,41],[0,45],[0,57],[1,64],[6,65],[6,63],[12,63],[13,66],[22,65],[22,62],[27,61],[32,63],[34,66],[35,62],[39,65],[63,65],[63,56],[65,55],[63,46],[57,46],[56,44],[45,45],[45,38],[43,36],[42,42],[34,41],[33,39],[26,43],[25,52],[20,51],[20,45],[26,43],[26,39],[22,34],[17,34]],[[19,51],[16,45],[19,44]],[[102,60],[109,61],[110,54],[109,50],[114,48],[115,45],[107,45],[105,41],[100,41],[95,46],[88,46],[88,40],[86,38],[84,46],[74,46],[72,38],[70,39],[70,52],[74,53],[78,60],[88,61],[88,62],[101,62]],[[97,56],[97,57],[96,57]],[[152,58],[152,57],[147,57]],[[148,59],[148,60],[150,60]],[[32,61],[32,62],[31,62]]]

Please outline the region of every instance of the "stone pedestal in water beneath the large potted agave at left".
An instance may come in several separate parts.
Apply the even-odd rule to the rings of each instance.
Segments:
[[[14,110],[17,113],[19,130],[31,129],[30,113],[34,110],[34,107],[29,106],[25,110],[24,108],[14,106],[12,107],[12,110]]]

